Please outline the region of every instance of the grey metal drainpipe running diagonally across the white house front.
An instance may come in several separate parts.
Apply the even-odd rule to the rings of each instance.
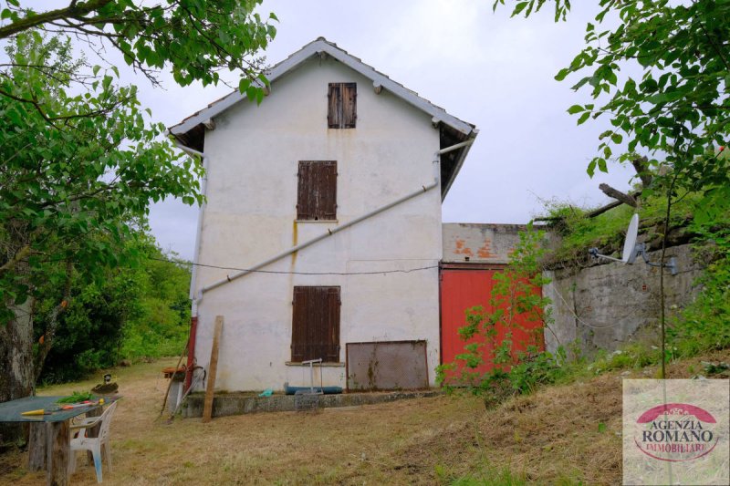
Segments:
[[[367,212],[367,213],[363,214],[362,216],[355,218],[354,220],[352,220],[350,222],[346,222],[344,224],[336,226],[335,228],[328,229],[327,233],[322,233],[319,236],[316,236],[316,237],[312,238],[311,240],[308,240],[305,243],[297,244],[297,246],[293,246],[282,253],[277,253],[275,256],[272,256],[271,258],[265,260],[264,262],[255,264],[254,266],[252,266],[251,268],[249,268],[247,270],[243,270],[243,271],[238,272],[233,275],[226,275],[223,280],[219,280],[218,282],[215,282],[214,284],[204,286],[202,289],[200,289],[200,292],[198,293],[197,301],[200,302],[201,300],[203,300],[203,292],[213,290],[216,287],[219,287],[223,284],[227,284],[244,275],[251,274],[251,273],[255,272],[256,270],[260,270],[261,268],[265,267],[266,265],[273,264],[274,262],[290,255],[291,253],[298,252],[299,250],[307,248],[311,244],[324,240],[325,238],[328,238],[329,236],[331,236],[335,233],[339,233],[342,230],[345,230],[345,229],[349,228],[350,226],[353,226],[359,222],[367,220],[368,218],[375,216],[376,214],[387,211],[387,210],[391,209],[392,207],[397,206],[398,204],[401,204],[401,202],[406,202],[406,201],[418,196],[419,194],[422,194],[422,192],[431,191],[434,187],[437,187],[439,185],[439,182],[441,179],[441,170],[440,170],[441,158],[440,158],[440,156],[442,154],[448,153],[452,150],[458,150],[467,145],[471,145],[473,142],[474,142],[474,140],[466,140],[461,143],[452,145],[451,147],[446,147],[445,149],[438,150],[435,153],[435,160],[433,160],[433,182],[431,182],[430,184],[422,186],[420,189],[418,189],[416,191],[412,191],[411,193],[406,194],[405,196],[402,196],[401,198],[399,198],[393,202],[389,202],[388,204],[385,204],[384,206],[381,206],[378,209]]]

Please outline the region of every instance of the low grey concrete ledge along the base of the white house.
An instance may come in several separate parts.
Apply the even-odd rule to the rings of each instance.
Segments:
[[[442,395],[443,391],[417,390],[417,391],[391,391],[391,392],[370,392],[370,393],[342,393],[340,395],[319,395],[318,408],[334,407],[357,407],[360,405],[372,405],[386,403],[395,400],[409,398],[430,398]],[[183,403],[183,418],[203,417],[203,393],[193,393]],[[250,393],[224,393],[215,395],[213,398],[213,416],[224,417],[226,415],[242,415],[256,412],[284,412],[295,411],[294,395],[273,395],[271,397],[258,397]]]

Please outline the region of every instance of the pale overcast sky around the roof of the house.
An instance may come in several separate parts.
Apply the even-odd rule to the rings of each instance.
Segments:
[[[511,2],[508,2],[510,4]],[[545,200],[599,205],[602,181],[628,187],[631,171],[613,164],[589,179],[586,166],[607,120],[577,127],[570,105],[589,95],[553,78],[584,45],[597,2],[573,2],[568,22],[552,11],[509,18],[492,0],[265,1],[279,18],[266,50],[273,65],[318,36],[418,92],[480,130],[443,202],[444,222],[524,223]],[[141,101],[171,126],[230,92],[230,88],[166,89],[139,79]],[[266,101],[265,101],[266,102]],[[163,249],[193,258],[197,208],[180,202],[153,207],[151,227]]]

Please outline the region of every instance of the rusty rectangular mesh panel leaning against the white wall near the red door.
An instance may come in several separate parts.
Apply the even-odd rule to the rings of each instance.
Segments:
[[[348,390],[428,388],[426,341],[347,344]]]

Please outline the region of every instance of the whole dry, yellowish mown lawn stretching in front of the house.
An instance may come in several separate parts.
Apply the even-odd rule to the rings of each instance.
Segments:
[[[670,377],[691,376],[702,360],[728,359],[730,350],[673,363]],[[437,397],[167,425],[158,418],[167,386],[160,370],[172,365],[113,370],[124,399],[111,425],[114,470],[105,465],[105,484],[616,484],[621,379],[655,374],[653,367],[607,373],[488,411],[476,398]],[[0,456],[0,484],[44,484],[26,462],[22,452]],[[93,468],[79,458],[71,481],[96,484]]]

